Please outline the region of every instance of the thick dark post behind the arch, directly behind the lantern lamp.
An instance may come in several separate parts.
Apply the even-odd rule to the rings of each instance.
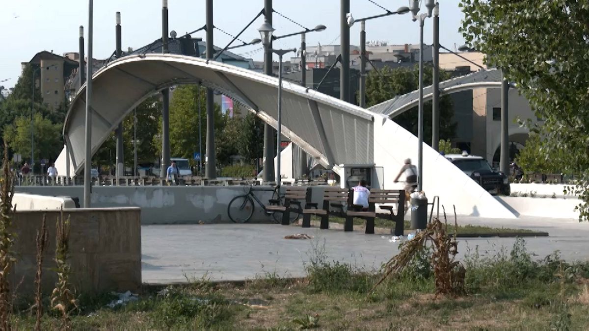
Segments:
[[[272,25],[272,0],[264,0],[264,16],[266,21]],[[264,74],[272,76],[272,40],[270,45],[264,49]],[[274,181],[274,130],[270,124],[264,124],[264,182]],[[279,140],[280,141],[280,140]],[[280,144],[280,143],[278,143]]]

